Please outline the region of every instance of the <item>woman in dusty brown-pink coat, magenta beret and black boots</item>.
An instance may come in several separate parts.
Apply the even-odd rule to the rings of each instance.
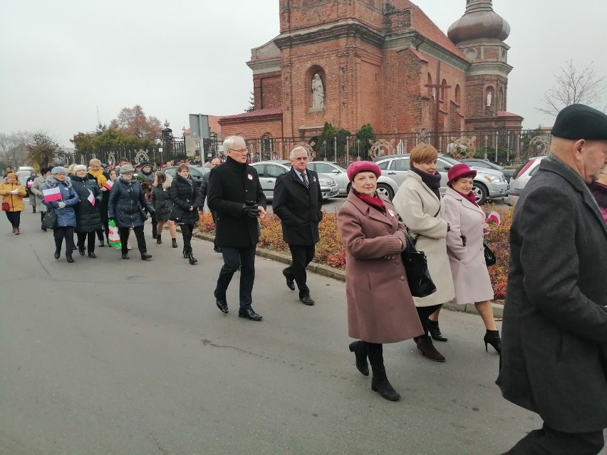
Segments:
[[[398,221],[388,199],[378,197],[381,170],[368,161],[348,167],[352,190],[337,216],[346,247],[346,300],[348,334],[356,367],[368,376],[367,357],[373,370],[371,389],[391,401],[400,399],[385,375],[383,343],[421,335],[423,330],[400,252],[406,248],[405,226]]]

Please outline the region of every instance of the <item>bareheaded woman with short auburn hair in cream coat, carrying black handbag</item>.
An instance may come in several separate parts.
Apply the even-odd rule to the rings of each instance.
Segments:
[[[415,340],[417,349],[430,360],[445,362],[445,357],[428,336],[430,332],[435,340],[447,341],[440,333],[437,318],[442,304],[455,297],[445,240],[449,224],[442,217],[437,158],[438,152],[432,145],[420,144],[411,150],[410,170],[395,194],[393,204],[410,234],[417,238],[416,249],[427,256],[428,270],[436,286],[436,292],[430,296],[413,298],[424,328],[424,335]],[[431,315],[436,319],[432,320]]]

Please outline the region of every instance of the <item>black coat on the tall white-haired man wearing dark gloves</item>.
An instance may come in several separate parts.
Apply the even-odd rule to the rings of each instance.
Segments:
[[[266,208],[266,197],[254,167],[228,157],[211,170],[207,204],[217,212],[215,239],[219,246],[255,246],[259,242],[259,220],[242,214],[251,201]]]

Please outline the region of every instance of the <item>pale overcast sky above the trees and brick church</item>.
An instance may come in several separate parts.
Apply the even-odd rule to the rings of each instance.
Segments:
[[[446,33],[466,1],[415,3]],[[551,125],[534,108],[567,60],[607,74],[607,2],[493,3],[512,27],[508,110]],[[175,135],[190,113],[242,113],[250,50],[278,33],[279,0],[3,0],[0,132],[44,130],[69,147],[135,104]]]

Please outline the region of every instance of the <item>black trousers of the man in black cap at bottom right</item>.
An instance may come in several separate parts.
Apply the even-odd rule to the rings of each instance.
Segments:
[[[596,455],[603,449],[603,432],[564,433],[549,427],[527,434],[506,454],[510,455]]]

